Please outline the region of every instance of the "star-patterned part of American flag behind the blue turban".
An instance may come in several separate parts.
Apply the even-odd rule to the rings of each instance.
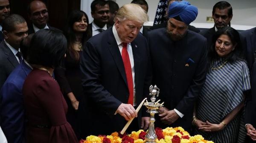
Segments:
[[[166,21],[167,1],[168,0],[159,0],[156,16],[154,19],[154,25],[157,25]]]

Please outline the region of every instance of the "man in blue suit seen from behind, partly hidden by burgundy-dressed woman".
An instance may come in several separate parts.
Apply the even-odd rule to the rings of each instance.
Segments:
[[[0,126],[6,135],[8,143],[25,143],[24,138],[24,105],[22,87],[32,70],[26,62],[27,49],[33,34],[27,36],[20,45],[23,61],[12,71],[0,91]]]

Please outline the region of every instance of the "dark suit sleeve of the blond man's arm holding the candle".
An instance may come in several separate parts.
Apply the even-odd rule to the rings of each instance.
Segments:
[[[102,85],[100,56],[102,55],[100,55],[98,49],[90,41],[86,42],[80,63],[82,86],[88,99],[96,103],[96,106],[113,115],[122,102],[111,95]]]

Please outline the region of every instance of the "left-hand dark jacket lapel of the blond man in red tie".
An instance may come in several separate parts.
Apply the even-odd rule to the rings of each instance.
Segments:
[[[124,79],[125,81],[125,84],[127,85],[128,87],[128,84],[127,84],[127,80],[126,80],[126,74],[125,74],[125,67],[124,67],[124,64],[122,62],[122,56],[121,56],[121,53],[120,53],[120,50],[118,48],[118,45],[116,43],[116,40],[115,40],[115,37],[113,35],[113,32],[112,32],[112,28],[109,29],[109,36],[108,36],[108,48],[110,50],[110,53],[116,63],[116,67],[118,68],[122,78]]]

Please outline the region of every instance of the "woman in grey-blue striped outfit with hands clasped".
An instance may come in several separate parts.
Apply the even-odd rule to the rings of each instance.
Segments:
[[[239,33],[225,27],[216,32],[214,41],[192,124],[196,134],[215,143],[243,143],[244,92],[250,89],[250,77]]]

